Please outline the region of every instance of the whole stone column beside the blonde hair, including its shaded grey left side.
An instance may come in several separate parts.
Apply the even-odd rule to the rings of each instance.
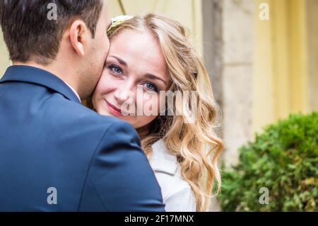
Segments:
[[[222,159],[237,164],[237,149],[252,134],[252,67],[254,2],[252,0],[202,0],[204,59],[214,96],[223,111]],[[211,211],[220,211],[212,200]]]

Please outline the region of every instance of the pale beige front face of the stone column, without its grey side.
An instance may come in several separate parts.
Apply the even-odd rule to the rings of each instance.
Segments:
[[[252,137],[254,2],[223,1],[223,140],[225,164]]]

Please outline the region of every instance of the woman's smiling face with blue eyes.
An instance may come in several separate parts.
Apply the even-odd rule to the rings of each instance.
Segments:
[[[113,115],[139,129],[165,107],[160,91],[170,77],[158,41],[148,30],[123,30],[110,42],[102,77],[93,94],[95,110]]]

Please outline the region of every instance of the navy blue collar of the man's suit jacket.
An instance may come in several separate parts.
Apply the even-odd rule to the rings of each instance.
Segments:
[[[56,75],[37,67],[14,65],[6,69],[0,83],[5,81],[21,81],[46,86],[57,91],[70,101],[81,103],[70,87]]]

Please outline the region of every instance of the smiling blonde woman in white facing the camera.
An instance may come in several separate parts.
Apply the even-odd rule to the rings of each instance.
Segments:
[[[220,190],[223,143],[214,134],[218,108],[204,64],[177,21],[156,14],[117,19],[108,31],[110,53],[93,107],[139,132],[166,211],[207,210],[215,181]],[[169,105],[160,95],[165,91],[192,92],[185,101],[172,96]],[[145,106],[155,113],[145,113]],[[188,108],[194,107],[191,118]]]

